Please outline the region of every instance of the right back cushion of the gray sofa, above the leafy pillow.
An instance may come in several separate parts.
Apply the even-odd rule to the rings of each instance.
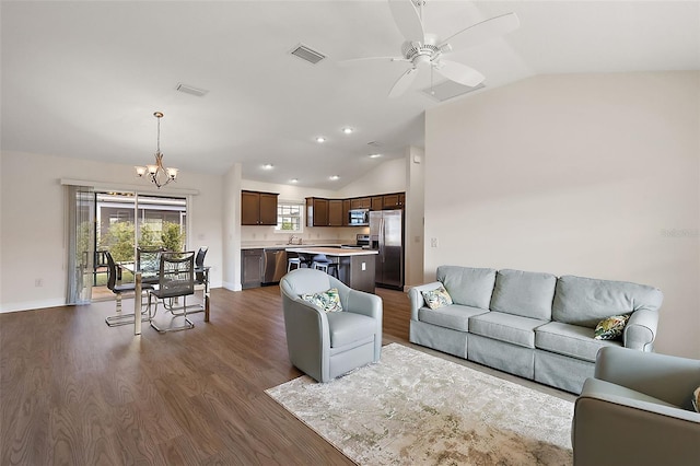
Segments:
[[[658,311],[661,290],[625,281],[563,276],[557,280],[552,321],[595,328],[611,316],[639,310]]]

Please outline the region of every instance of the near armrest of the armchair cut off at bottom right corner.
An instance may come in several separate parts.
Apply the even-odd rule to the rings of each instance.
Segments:
[[[575,403],[571,432],[575,466],[696,464],[698,438],[696,412],[625,399],[585,385]]]

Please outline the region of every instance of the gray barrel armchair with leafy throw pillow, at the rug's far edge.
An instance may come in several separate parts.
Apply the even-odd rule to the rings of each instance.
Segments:
[[[342,312],[326,313],[300,296],[337,288]],[[382,353],[382,299],[352,290],[315,269],[295,269],[280,280],[289,358],[318,382],[377,362]]]

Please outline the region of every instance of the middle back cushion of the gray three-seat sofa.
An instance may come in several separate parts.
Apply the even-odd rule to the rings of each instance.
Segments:
[[[490,310],[550,321],[556,286],[551,273],[499,270]]]

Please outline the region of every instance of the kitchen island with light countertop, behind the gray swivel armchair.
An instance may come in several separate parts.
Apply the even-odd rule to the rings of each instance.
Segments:
[[[325,254],[328,260],[338,264],[340,281],[354,290],[374,293],[375,256],[378,254],[375,249],[299,246],[288,247],[287,252],[310,258]]]

